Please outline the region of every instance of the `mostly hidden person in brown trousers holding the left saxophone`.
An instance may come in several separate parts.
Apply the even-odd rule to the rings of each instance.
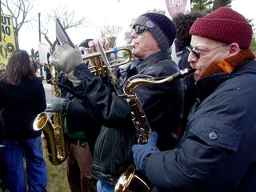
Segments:
[[[54,108],[62,110],[65,117],[65,132],[67,148],[70,154],[66,158],[67,179],[71,191],[91,192],[96,191],[96,180],[90,177],[92,154],[94,143],[98,136],[101,125],[90,116],[89,110],[83,107],[78,98],[67,93],[73,88],[65,75],[60,74],[62,97],[55,98],[51,104]],[[66,88],[66,89],[65,89]],[[74,89],[79,92],[80,86]],[[61,104],[61,105],[60,105]]]

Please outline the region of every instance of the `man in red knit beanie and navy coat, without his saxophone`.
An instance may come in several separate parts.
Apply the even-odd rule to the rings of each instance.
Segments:
[[[222,7],[190,28],[198,98],[180,142],[159,151],[153,132],[134,163],[158,191],[256,191],[256,61],[252,26]]]

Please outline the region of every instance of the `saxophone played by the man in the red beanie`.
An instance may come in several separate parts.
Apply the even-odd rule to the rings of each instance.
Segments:
[[[180,72],[171,75],[167,78],[162,78],[159,80],[154,79],[149,75],[134,75],[126,81],[126,84],[123,88],[124,93],[127,97],[127,102],[129,102],[132,109],[132,121],[134,122],[134,126],[136,129],[136,135],[138,138],[138,143],[146,144],[148,138],[150,137],[151,129],[149,122],[146,119],[146,115],[143,112],[142,105],[138,101],[138,97],[134,94],[134,90],[138,88],[138,86],[150,86],[150,85],[159,85],[166,82],[172,82],[179,78],[185,78],[187,75],[194,73],[193,69],[184,69],[180,70]],[[115,192],[121,191],[133,191],[129,189],[131,182],[138,182],[140,186],[143,186],[143,191],[150,191],[150,187],[146,184],[146,182],[142,181],[135,174],[134,165],[130,165],[118,178],[118,182],[114,187]]]

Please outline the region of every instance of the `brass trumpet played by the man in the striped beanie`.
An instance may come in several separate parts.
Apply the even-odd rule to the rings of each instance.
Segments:
[[[122,65],[126,65],[127,63],[130,62],[131,58],[132,58],[132,53],[130,50],[131,46],[121,46],[118,47],[118,52],[119,51],[125,51],[127,54],[127,58],[124,61],[118,61],[118,60],[114,60],[114,61],[110,61],[110,68],[111,70],[117,66],[122,66]],[[106,50],[105,51],[106,55],[110,55],[110,54],[117,54],[117,50],[111,48],[110,50]],[[92,66],[89,66],[89,70],[91,73],[95,74],[96,76],[100,76],[100,77],[105,77],[107,75],[110,74],[109,70],[106,69],[106,65],[104,64],[104,62],[102,61],[101,58],[101,54],[99,52],[94,52],[91,54],[83,54],[82,55],[82,60],[90,60],[90,64],[93,64]]]

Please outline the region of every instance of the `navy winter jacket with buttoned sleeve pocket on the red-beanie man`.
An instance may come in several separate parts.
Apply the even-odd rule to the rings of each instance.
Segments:
[[[165,191],[256,191],[255,82],[256,61],[200,79],[178,147],[147,159],[150,182]]]

